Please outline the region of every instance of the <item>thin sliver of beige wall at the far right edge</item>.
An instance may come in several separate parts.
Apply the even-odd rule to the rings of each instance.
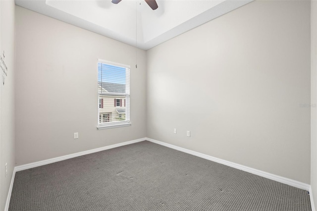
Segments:
[[[311,186],[317,205],[317,1],[311,1]]]

